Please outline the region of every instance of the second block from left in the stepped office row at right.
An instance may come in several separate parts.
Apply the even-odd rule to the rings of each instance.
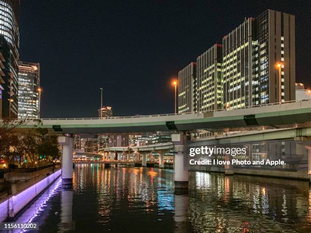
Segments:
[[[197,111],[223,108],[222,45],[215,44],[197,58]]]

